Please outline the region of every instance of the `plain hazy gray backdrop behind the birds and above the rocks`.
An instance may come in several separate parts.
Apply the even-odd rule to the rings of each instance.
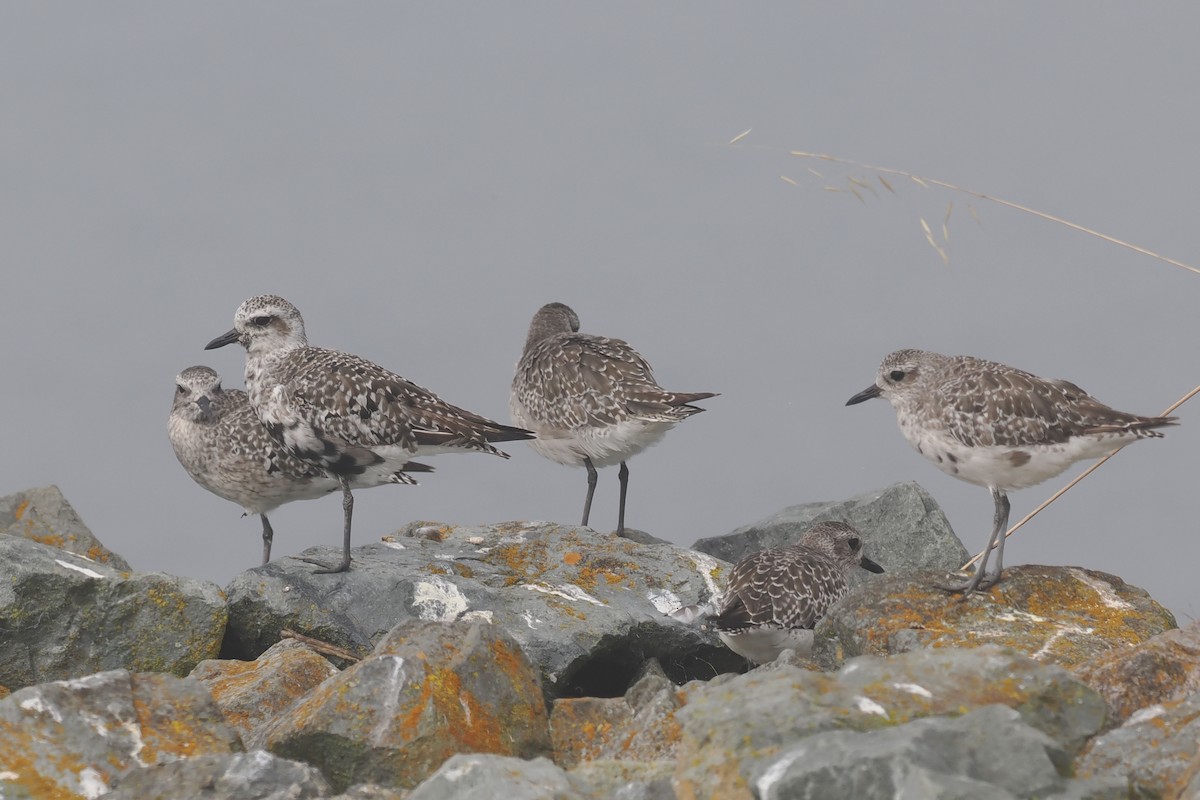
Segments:
[[[1196,30],[1195,4],[1092,1],[5,4],[0,494],[58,483],[136,569],[224,583],[257,564],[259,523],[187,477],[166,420],[184,367],[242,385],[239,348],[202,348],[244,299],[281,294],[314,344],[502,421],[557,300],[667,387],[722,393],[631,462],[631,527],[690,545],[917,480],[978,549],[988,492],[912,451],[884,402],[846,398],[919,347],[1159,413],[1200,383],[1200,276],[904,179],[860,201],[824,186],[870,173],[788,150],[1194,264]],[[946,265],[920,219],[940,237],[952,200]],[[1115,572],[1195,618],[1200,425],[1181,414],[1008,564]],[[577,522],[583,471],[511,452],[359,493],[355,543],[412,519]],[[1014,493],[1014,521],[1074,471]],[[608,469],[592,522],[616,516]],[[341,519],[336,498],[276,511],[276,557],[336,546]]]

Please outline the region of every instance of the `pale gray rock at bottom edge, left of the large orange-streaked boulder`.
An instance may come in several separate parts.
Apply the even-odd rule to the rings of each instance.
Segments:
[[[329,795],[329,783],[307,764],[262,750],[198,756],[127,772],[110,800],[308,800]]]

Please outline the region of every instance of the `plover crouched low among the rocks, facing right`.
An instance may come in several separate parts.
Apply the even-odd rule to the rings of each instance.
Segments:
[[[812,654],[812,628],[846,596],[854,567],[883,572],[863,555],[863,537],[842,522],[817,523],[800,541],[745,557],[709,622],[727,648],[755,663],[784,650]]]

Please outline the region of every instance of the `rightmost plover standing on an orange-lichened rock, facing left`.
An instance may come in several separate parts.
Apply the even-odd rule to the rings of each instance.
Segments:
[[[1008,529],[1008,492],[1058,475],[1076,461],[1098,458],[1156,431],[1174,416],[1117,411],[1066,380],[1045,380],[972,356],[896,350],[875,384],[846,405],[883,397],[917,452],[943,473],[986,486],[995,501],[991,536],[974,575],[942,587],[964,596],[1000,581]],[[988,557],[996,549],[996,569]]]

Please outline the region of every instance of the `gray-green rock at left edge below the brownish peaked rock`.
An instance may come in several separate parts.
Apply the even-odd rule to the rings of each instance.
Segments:
[[[0,535],[0,685],[11,690],[103,669],[186,675],[217,655],[226,619],[214,583]]]

